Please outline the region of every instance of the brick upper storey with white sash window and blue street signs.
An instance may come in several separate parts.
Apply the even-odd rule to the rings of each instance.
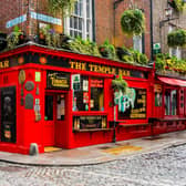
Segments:
[[[137,39],[136,43],[140,46],[135,44],[135,48],[151,58],[151,1],[136,0],[134,2],[145,12],[146,17],[146,31],[142,41]],[[125,37],[120,25],[121,16],[131,6],[131,0],[81,0],[73,17],[71,19],[64,18],[62,21],[50,18],[55,17],[61,20],[61,16],[49,13],[46,0],[2,0],[0,3],[0,31],[7,33],[11,32],[13,25],[17,24],[28,35],[34,35],[41,24],[45,23],[51,24],[58,32],[73,37],[79,34],[84,39],[96,41],[97,44],[102,44],[108,39],[116,46],[133,46],[133,38]],[[49,21],[50,19],[51,21]],[[52,23],[52,21],[59,22]]]

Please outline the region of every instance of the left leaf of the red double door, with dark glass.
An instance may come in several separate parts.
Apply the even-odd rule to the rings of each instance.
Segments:
[[[54,95],[45,95],[45,115],[44,115],[44,146],[54,146],[54,131],[55,131],[55,96]]]

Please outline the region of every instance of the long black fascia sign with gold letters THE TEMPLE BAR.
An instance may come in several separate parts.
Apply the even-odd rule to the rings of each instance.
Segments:
[[[37,63],[37,64],[44,64],[44,65],[52,65],[52,66],[60,66],[60,68],[66,68],[72,70],[80,70],[80,71],[90,71],[90,72],[96,72],[96,73],[104,73],[104,74],[112,74],[112,75],[123,75],[123,76],[132,76],[132,78],[138,78],[138,79],[147,79],[148,72],[143,72],[138,70],[127,70],[123,68],[115,68],[111,65],[102,65],[96,64],[93,62],[80,62],[80,61],[72,61],[70,59],[64,58],[55,58],[55,56],[40,56],[38,53],[29,53],[24,54],[24,63]],[[12,58],[9,59],[10,66],[18,65],[18,59]]]

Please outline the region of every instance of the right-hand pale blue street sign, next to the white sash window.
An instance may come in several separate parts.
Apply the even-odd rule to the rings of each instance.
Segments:
[[[37,12],[30,12],[30,17],[32,19],[35,19],[35,20],[49,22],[49,23],[52,23],[52,24],[62,25],[62,21],[59,18],[53,18],[53,17],[49,17],[49,16],[45,16],[45,14],[42,14],[42,13],[37,13]]]

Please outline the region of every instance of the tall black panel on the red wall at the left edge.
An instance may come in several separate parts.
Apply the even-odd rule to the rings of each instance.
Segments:
[[[16,86],[2,87],[0,90],[1,101],[1,142],[16,143]]]

